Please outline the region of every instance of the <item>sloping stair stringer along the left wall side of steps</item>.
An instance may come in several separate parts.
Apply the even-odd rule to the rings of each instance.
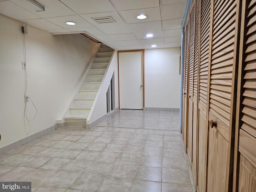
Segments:
[[[86,63],[84,70],[82,71],[76,85],[72,90],[72,94],[70,94],[70,99],[69,99],[70,102],[67,102],[67,104],[63,107],[62,112],[60,112],[60,115],[58,116],[57,124],[62,124],[65,122],[65,116],[69,114],[70,107],[74,106],[74,100],[78,95],[78,90],[80,90],[80,87],[82,86],[84,79],[86,78],[86,74],[88,73],[88,69],[90,68],[94,58],[96,57],[96,54],[99,52],[100,46],[101,46],[101,43],[97,43],[96,46],[93,48],[92,54],[88,62]]]

